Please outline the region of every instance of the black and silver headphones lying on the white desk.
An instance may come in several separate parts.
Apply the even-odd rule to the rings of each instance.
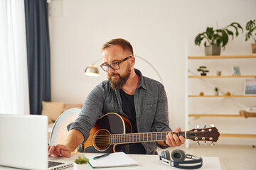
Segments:
[[[183,150],[181,149],[173,150],[171,152],[171,158],[169,151],[163,151],[161,152],[159,158],[163,162],[163,164],[170,164],[171,166],[180,169],[199,169],[203,166],[203,159],[201,157],[196,157],[191,154],[185,154],[185,152],[183,152]],[[185,161],[186,158],[192,160]]]

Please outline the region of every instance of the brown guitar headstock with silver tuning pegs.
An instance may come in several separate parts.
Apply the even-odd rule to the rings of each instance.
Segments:
[[[193,141],[217,142],[220,132],[215,127],[195,128],[186,132],[186,138]]]

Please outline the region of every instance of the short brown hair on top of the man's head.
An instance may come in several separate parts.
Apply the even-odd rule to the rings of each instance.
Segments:
[[[106,42],[102,46],[102,52],[106,50],[108,47],[111,47],[112,45],[120,45],[124,51],[128,50],[129,52],[132,52],[132,55],[134,55],[132,45],[130,44],[130,42],[122,38],[116,38]]]

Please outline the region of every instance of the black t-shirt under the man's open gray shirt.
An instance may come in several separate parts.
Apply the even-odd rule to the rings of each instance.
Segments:
[[[127,115],[132,125],[132,132],[137,133],[136,111],[134,106],[134,95],[126,94],[122,89],[119,90],[122,100],[122,111]],[[141,142],[130,144],[124,147],[124,152],[129,154],[146,154],[146,149]]]

